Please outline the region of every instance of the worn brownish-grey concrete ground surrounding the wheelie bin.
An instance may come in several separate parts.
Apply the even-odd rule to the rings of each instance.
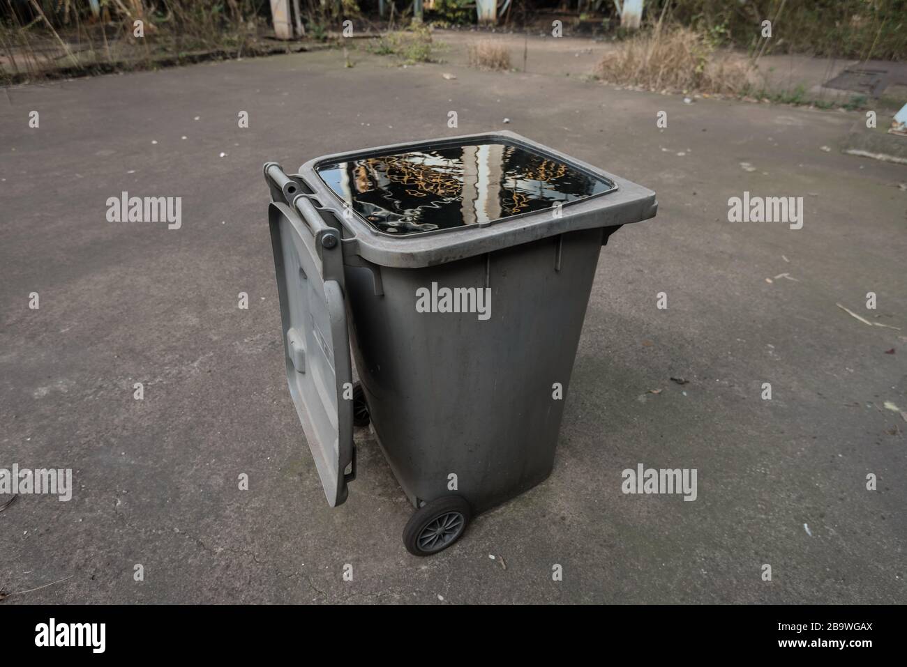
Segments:
[[[0,97],[0,468],[74,476],[69,502],[0,512],[5,604],[907,600],[907,421],[891,409],[907,410],[907,170],[837,150],[857,114],[354,60]],[[287,390],[261,165],[493,129],[655,189],[660,208],[602,250],[551,478],[418,559],[367,430],[348,501],[325,502]],[[107,222],[123,190],[181,196],[182,227]],[[728,222],[745,190],[803,197],[804,227]],[[697,469],[697,500],[622,494],[638,463]]]

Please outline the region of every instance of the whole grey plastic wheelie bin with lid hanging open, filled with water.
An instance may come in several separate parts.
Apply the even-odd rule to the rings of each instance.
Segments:
[[[406,548],[437,553],[551,473],[600,248],[655,193],[512,132],[265,176],[289,390],[327,502],[370,424],[415,507]]]

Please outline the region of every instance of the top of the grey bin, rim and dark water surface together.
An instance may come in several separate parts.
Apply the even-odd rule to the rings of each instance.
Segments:
[[[344,211],[344,253],[381,266],[443,264],[658,210],[652,190],[508,131],[336,153],[299,176]]]

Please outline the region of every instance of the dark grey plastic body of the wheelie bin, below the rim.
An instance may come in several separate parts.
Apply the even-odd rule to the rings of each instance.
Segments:
[[[424,268],[346,267],[369,417],[415,507],[456,492],[482,512],[551,472],[602,229]],[[560,266],[558,266],[560,260]],[[417,313],[416,291],[491,288],[477,314]],[[557,390],[559,383],[561,390]]]

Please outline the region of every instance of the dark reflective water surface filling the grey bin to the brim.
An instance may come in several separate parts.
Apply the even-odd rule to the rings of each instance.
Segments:
[[[491,222],[613,187],[560,160],[503,143],[375,155],[317,171],[359,215],[397,236]]]

